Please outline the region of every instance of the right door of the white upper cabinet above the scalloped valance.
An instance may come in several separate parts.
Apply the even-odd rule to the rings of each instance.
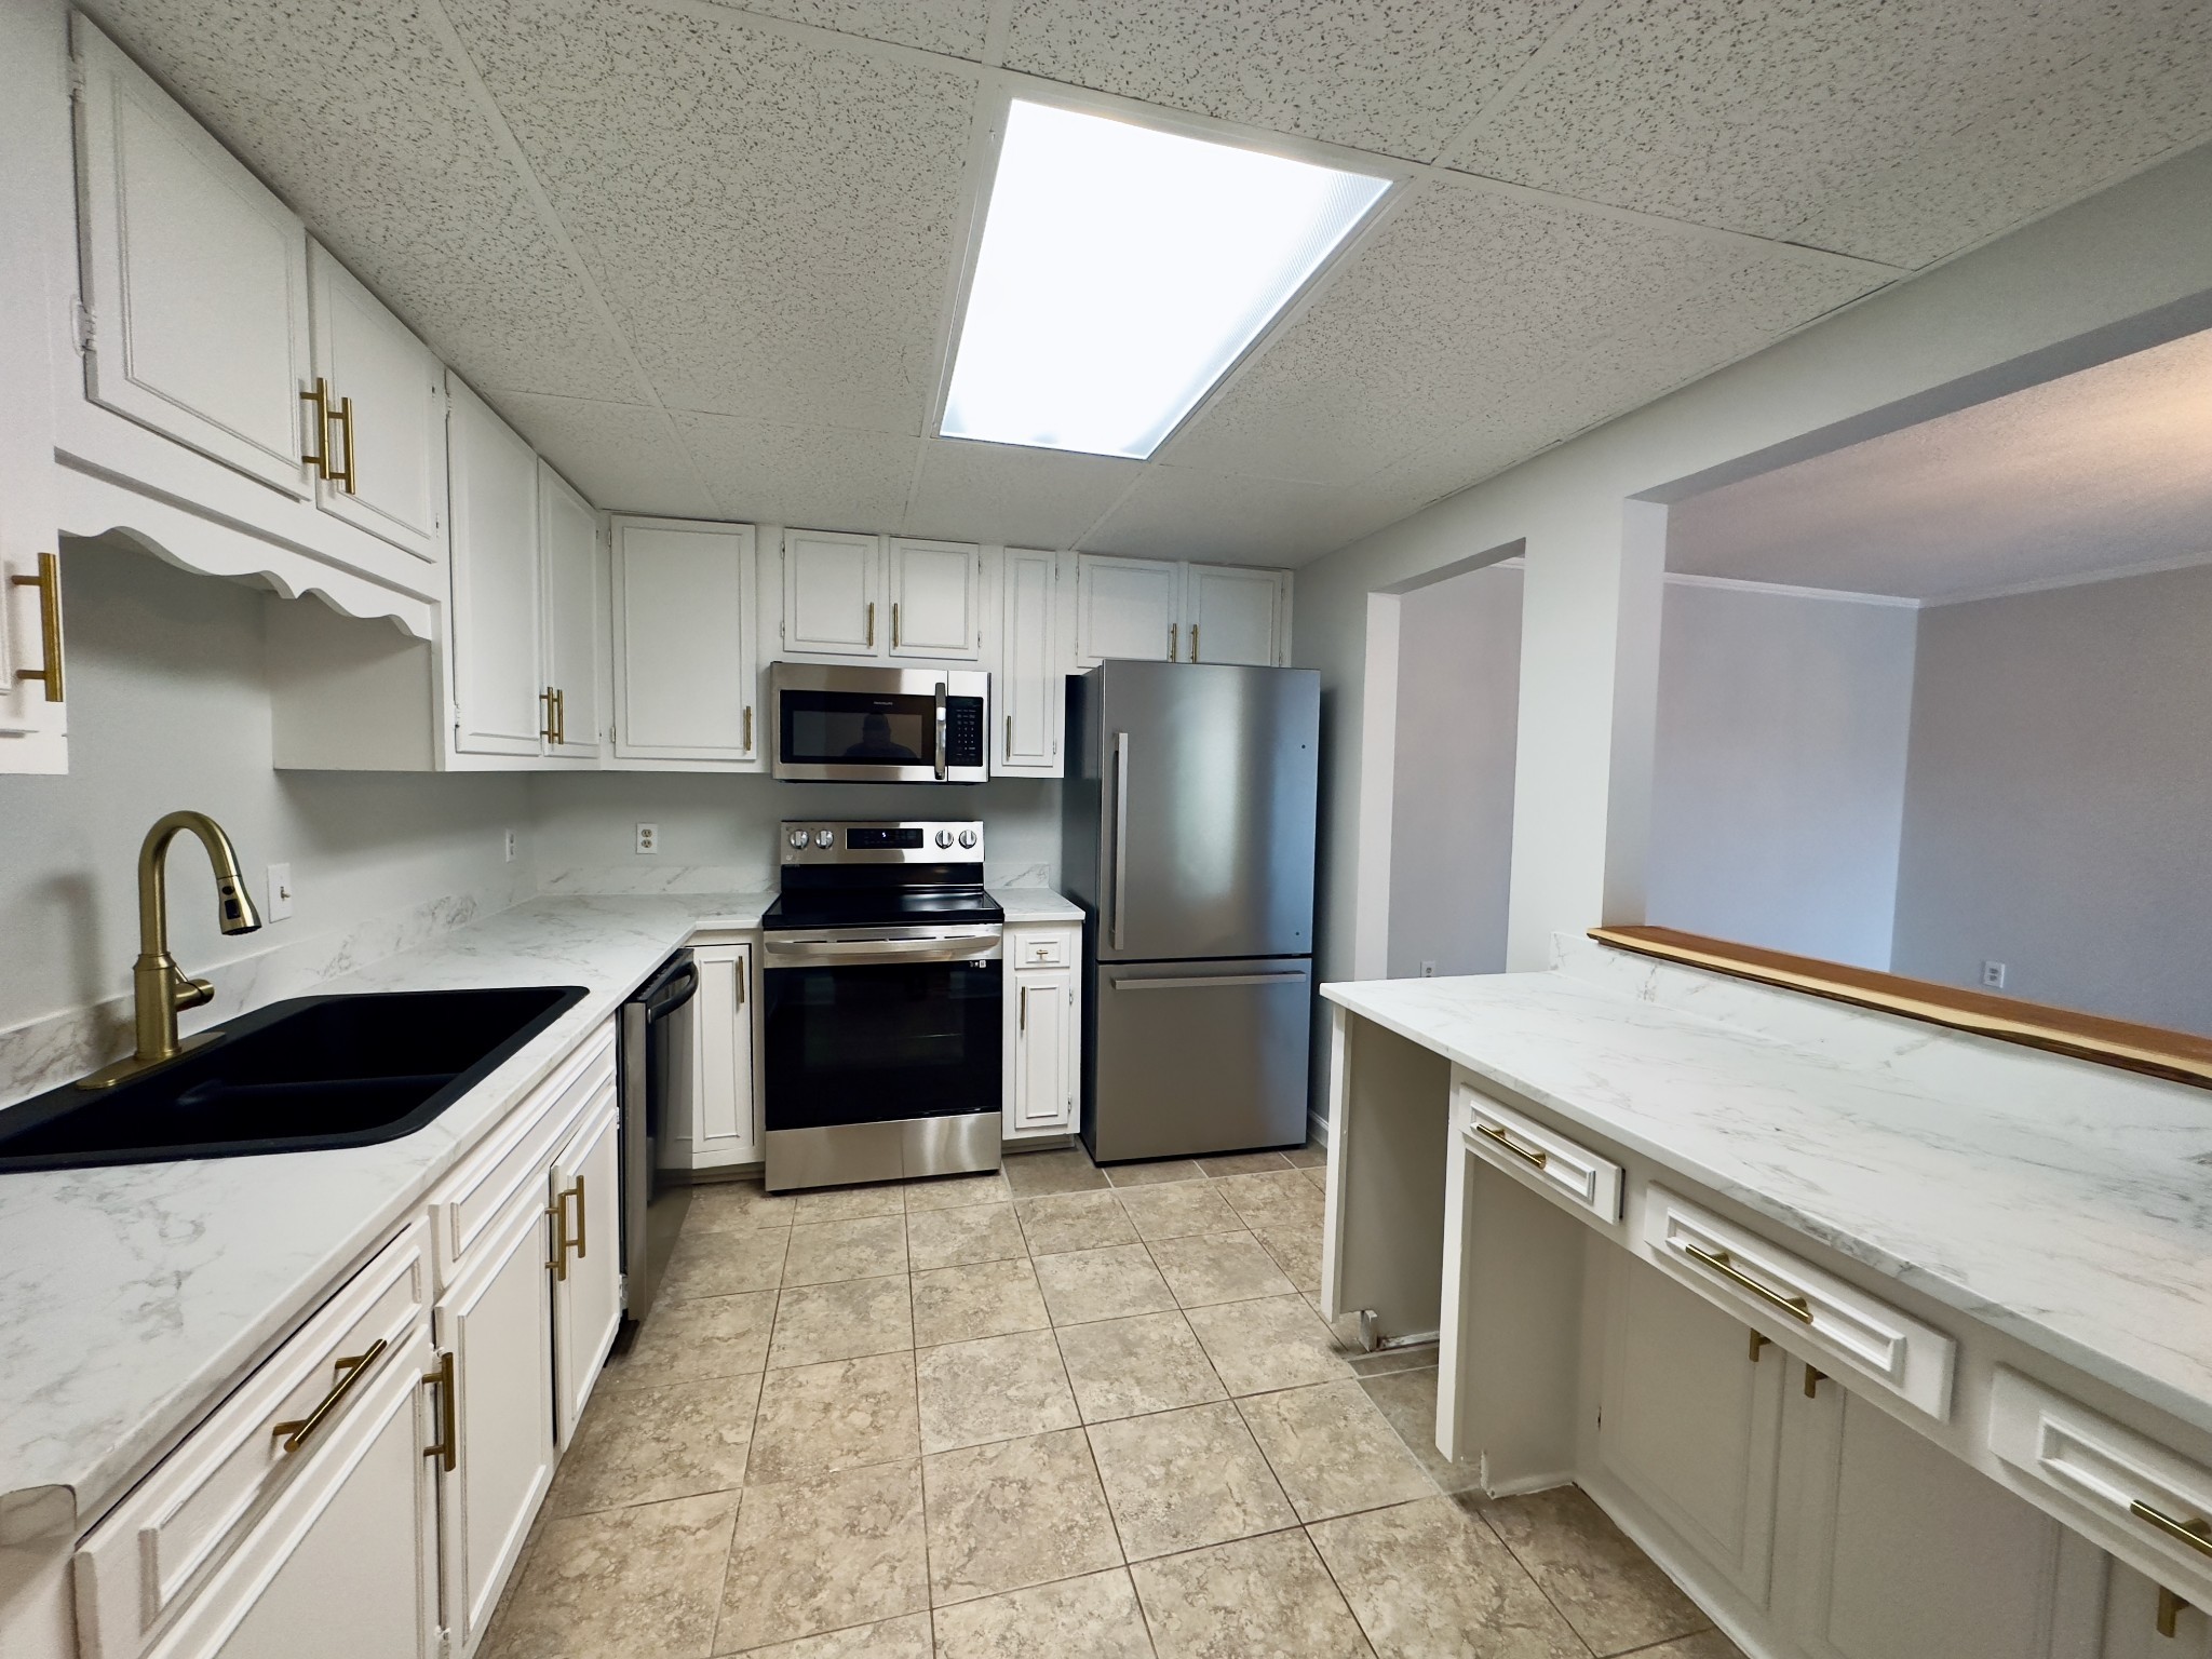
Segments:
[[[440,555],[445,369],[407,325],[321,246],[307,246],[314,372],[330,387],[330,471],[314,500],[334,518],[414,553]],[[312,418],[312,411],[310,411]],[[314,447],[314,434],[307,434]]]

